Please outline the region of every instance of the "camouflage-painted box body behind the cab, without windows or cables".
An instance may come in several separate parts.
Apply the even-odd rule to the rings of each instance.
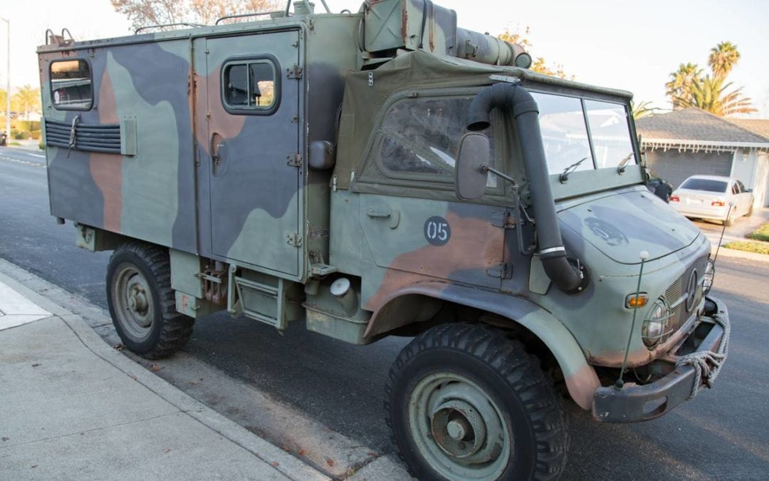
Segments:
[[[45,118],[70,124],[79,115],[78,125],[130,118],[138,130],[137,155],[50,146],[52,215],[306,279],[308,252],[328,260],[328,202],[318,201],[328,199],[331,178],[328,171],[307,168],[307,147],[334,141],[331,115],[341,103],[345,72],[358,61],[355,52],[335,45],[353,42],[359,20],[277,18],[40,47]],[[221,67],[267,55],[275,59],[281,82],[277,111],[227,112]],[[92,109],[52,105],[50,64],[70,58],[90,65]],[[301,73],[289,78],[295,66]],[[218,165],[211,152],[215,134],[225,152]],[[303,165],[288,165],[296,155]],[[290,245],[291,234],[305,242]]]

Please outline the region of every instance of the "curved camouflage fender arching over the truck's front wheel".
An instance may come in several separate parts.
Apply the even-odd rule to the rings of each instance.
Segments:
[[[454,302],[463,306],[493,312],[506,319],[517,322],[531,331],[544,342],[558,361],[571,398],[582,409],[591,409],[593,393],[601,387],[595,370],[584,357],[582,349],[574,336],[563,323],[550,312],[542,309],[528,299],[508,296],[499,292],[474,289],[469,286],[458,286],[444,282],[417,282],[392,292],[385,302],[371,316],[365,336],[371,336],[388,329],[391,326],[380,316],[387,311],[387,306],[401,296],[419,295],[434,299]],[[382,329],[384,328],[384,329]]]

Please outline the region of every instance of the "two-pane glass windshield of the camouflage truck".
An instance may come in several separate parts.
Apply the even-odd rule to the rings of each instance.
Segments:
[[[531,95],[539,107],[544,155],[551,175],[570,166],[575,171],[635,162],[624,105],[542,92]]]

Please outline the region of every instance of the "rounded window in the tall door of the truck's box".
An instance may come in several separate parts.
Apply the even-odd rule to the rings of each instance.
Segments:
[[[221,98],[235,114],[270,114],[278,108],[278,77],[268,59],[245,59],[225,64]]]

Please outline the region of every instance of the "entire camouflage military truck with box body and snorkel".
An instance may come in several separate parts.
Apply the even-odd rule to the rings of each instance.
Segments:
[[[290,7],[38,48],[51,212],[114,251],[128,349],[223,309],[413,336],[384,405],[420,479],[556,477],[562,398],[630,423],[711,385],[711,246],[645,188],[630,93],[428,0]]]

